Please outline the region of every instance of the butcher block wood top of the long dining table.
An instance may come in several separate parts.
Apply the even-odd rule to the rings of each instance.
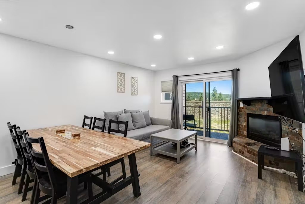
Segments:
[[[56,135],[56,129],[80,132],[81,137],[65,139]],[[98,132],[74,125],[27,130],[30,137],[42,136],[51,163],[70,177],[115,161],[119,158],[144,150],[150,143]],[[33,148],[41,151],[39,144]]]

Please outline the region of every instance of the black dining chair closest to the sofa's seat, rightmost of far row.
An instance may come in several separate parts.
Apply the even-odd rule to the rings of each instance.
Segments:
[[[123,130],[117,130],[117,129],[111,129],[111,124],[118,124],[118,125],[124,125],[124,131]],[[124,137],[127,137],[127,128],[128,128],[128,121],[113,121],[113,120],[109,120],[109,126],[108,126],[108,134],[110,134],[111,132],[116,132],[116,133],[121,133],[123,134]],[[110,162],[106,165],[104,165],[104,169],[103,169],[103,180],[106,181],[106,170],[107,172],[109,172],[110,174],[110,167],[118,164],[121,162],[122,165],[122,173],[123,175],[118,177],[117,179],[115,179],[114,181],[112,181],[110,184],[115,184],[117,183],[119,180],[121,179],[125,179],[126,178],[126,171],[125,171],[125,161],[124,161],[124,157],[117,159],[116,161]],[[109,176],[109,175],[108,175]]]

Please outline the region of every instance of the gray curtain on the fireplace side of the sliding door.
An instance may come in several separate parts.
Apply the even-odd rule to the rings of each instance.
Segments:
[[[232,70],[232,102],[231,102],[231,121],[230,121],[230,130],[229,130],[229,138],[227,145],[232,147],[233,138],[237,135],[237,125],[238,125],[238,71],[237,69]]]

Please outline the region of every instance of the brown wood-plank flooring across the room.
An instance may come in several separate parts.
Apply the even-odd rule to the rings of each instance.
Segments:
[[[296,179],[271,170],[262,170],[257,178],[257,166],[231,152],[225,144],[198,140],[198,151],[192,150],[177,164],[174,158],[149,156],[149,149],[136,154],[141,174],[141,196],[135,198],[128,186],[103,203],[305,203],[305,193],[297,190]],[[125,157],[127,176],[130,175]],[[111,168],[114,180],[121,175],[120,164]],[[12,176],[0,177],[0,203],[21,203],[18,184],[12,186]],[[18,180],[17,180],[18,181]],[[87,191],[79,187],[79,202]],[[94,185],[94,191],[101,190]],[[27,200],[29,203],[30,193]],[[65,197],[58,203],[65,203]]]

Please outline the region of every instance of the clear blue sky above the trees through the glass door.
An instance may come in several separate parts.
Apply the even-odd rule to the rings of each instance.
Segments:
[[[211,81],[210,82],[210,88],[211,92],[213,87],[216,87],[217,93],[221,92],[222,94],[231,94],[231,88],[232,88],[232,81],[226,80],[226,81]],[[201,92],[203,93],[203,82],[197,82],[197,83],[187,83],[186,84],[186,91],[187,92]]]

